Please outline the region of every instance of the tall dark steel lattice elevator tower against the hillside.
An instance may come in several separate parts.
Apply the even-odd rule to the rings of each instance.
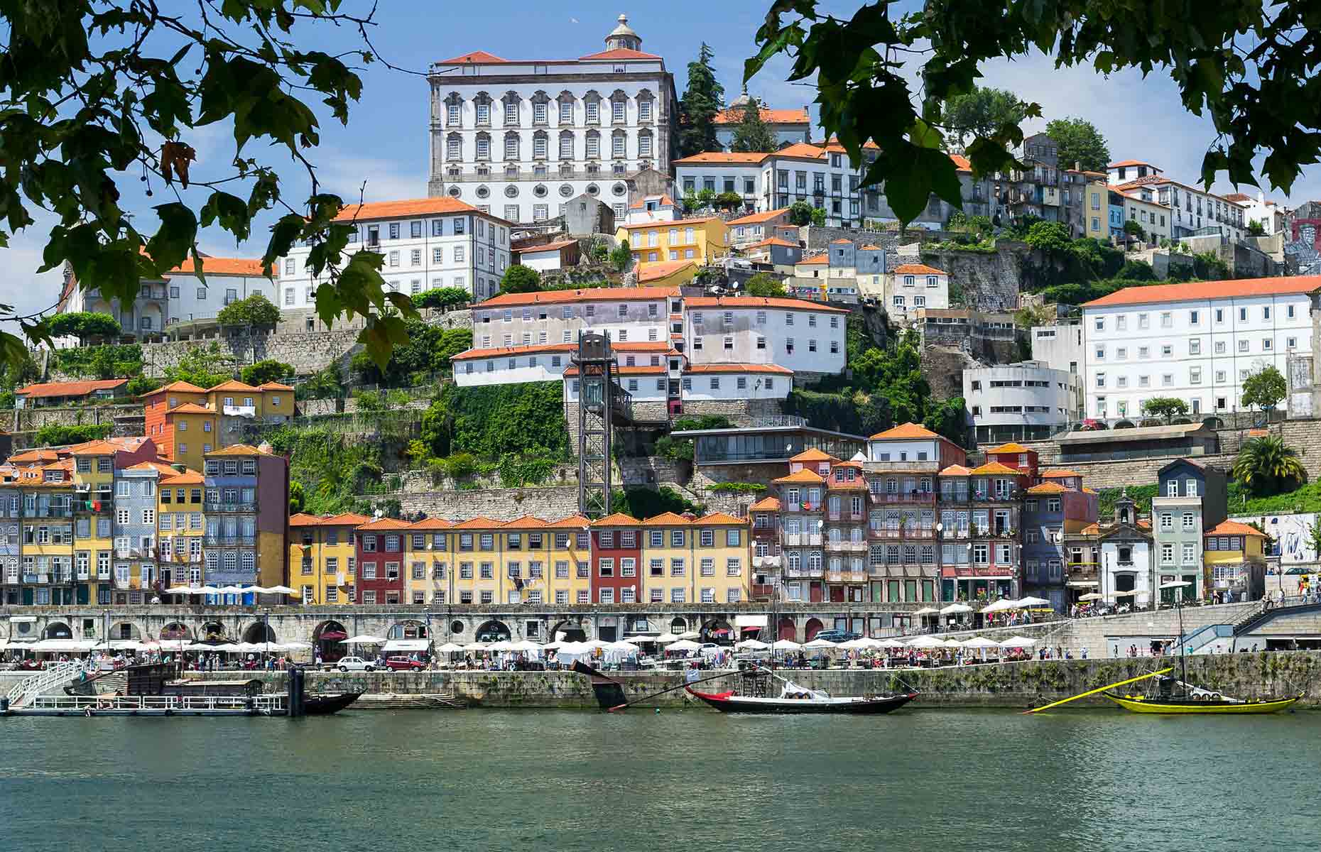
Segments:
[[[579,511],[588,518],[610,514],[614,487],[610,462],[616,424],[631,423],[631,398],[614,380],[610,338],[579,334],[573,366],[579,374]]]

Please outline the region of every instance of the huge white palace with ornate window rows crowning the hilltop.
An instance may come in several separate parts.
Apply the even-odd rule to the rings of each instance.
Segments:
[[[622,15],[602,52],[502,59],[478,50],[433,63],[428,81],[431,195],[540,222],[587,193],[622,222],[627,176],[670,172],[674,77]]]

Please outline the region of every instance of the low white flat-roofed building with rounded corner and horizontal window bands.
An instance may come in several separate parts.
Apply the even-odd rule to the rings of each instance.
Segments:
[[[1067,428],[1082,404],[1077,373],[1037,361],[963,371],[963,399],[978,444],[1041,441]]]

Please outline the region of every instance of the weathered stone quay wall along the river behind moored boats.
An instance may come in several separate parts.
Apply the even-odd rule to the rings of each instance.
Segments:
[[[1079,692],[1149,672],[1155,664],[1178,667],[1177,657],[1157,659],[1108,660],[1030,660],[1021,663],[964,666],[962,668],[898,671],[794,671],[786,672],[795,683],[831,695],[875,695],[913,688],[921,697],[913,708],[1012,708],[1022,709],[1057,701]],[[1188,678],[1198,686],[1234,697],[1269,695],[1306,696],[1303,705],[1321,703],[1321,653],[1260,651],[1256,654],[1223,654],[1190,657]],[[705,674],[705,672],[704,672]],[[205,679],[232,679],[234,672],[193,672]],[[268,692],[283,691],[284,672],[259,672]],[[624,674],[630,700],[680,686],[683,672]],[[705,690],[719,692],[737,684],[740,676],[711,680]],[[596,708],[596,699],[587,679],[571,672],[312,672],[308,690],[313,692],[370,692],[394,695],[453,693],[470,707],[481,708]],[[659,696],[649,705],[691,705],[683,690]],[[1075,701],[1077,707],[1110,705],[1100,696]]]

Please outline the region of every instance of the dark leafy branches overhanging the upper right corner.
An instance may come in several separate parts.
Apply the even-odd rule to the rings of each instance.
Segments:
[[[983,63],[1037,50],[1057,67],[1166,71],[1184,107],[1215,125],[1202,159],[1207,188],[1221,172],[1235,185],[1256,185],[1252,160],[1266,152],[1262,174],[1287,193],[1301,166],[1321,159],[1321,100],[1312,96],[1321,40],[1309,0],[1225,0],[1196,11],[1148,0],[927,0],[902,17],[890,5],[868,3],[847,17],[816,0],[773,0],[744,82],[787,54],[790,81],[815,81],[824,135],[836,135],[855,164],[863,144],[876,143],[865,182],[884,182],[902,222],[917,218],[933,193],[962,207],[945,155],[952,132],[945,104],[972,91]],[[911,79],[922,81],[919,91]],[[1041,118],[1041,107],[1025,104],[1024,116]],[[1005,122],[976,133],[964,152],[975,173],[989,174],[1013,165],[1011,149],[1021,141],[1022,131]]]

